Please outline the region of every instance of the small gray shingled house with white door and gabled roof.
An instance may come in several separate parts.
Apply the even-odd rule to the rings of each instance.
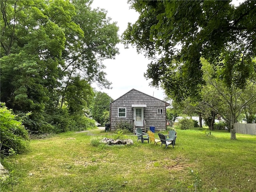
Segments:
[[[110,130],[120,122],[128,122],[144,132],[154,126],[156,131],[166,130],[167,102],[132,89],[110,103]]]

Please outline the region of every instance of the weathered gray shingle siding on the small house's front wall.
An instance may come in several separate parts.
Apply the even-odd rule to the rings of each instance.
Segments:
[[[132,105],[134,104],[146,105],[144,107],[144,120],[146,120],[147,130],[149,130],[149,126],[154,126],[156,131],[166,130],[166,106],[169,104],[135,89],[130,90],[110,104],[111,130],[116,130],[116,125],[122,121],[133,123],[134,109]],[[118,108],[126,108],[126,118],[118,118]],[[157,109],[163,109],[163,114],[158,115]]]

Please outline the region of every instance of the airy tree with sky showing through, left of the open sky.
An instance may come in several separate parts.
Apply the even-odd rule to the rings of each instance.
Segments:
[[[96,82],[99,87],[110,88],[111,85],[105,78],[102,60],[112,59],[119,53],[116,48],[120,42],[119,28],[106,16],[106,11],[91,10],[91,3],[88,0],[72,0],[76,14],[71,20],[79,24],[82,33],[78,35],[69,27],[67,32],[65,30],[68,35],[62,55],[65,60],[63,71],[67,78],[62,80],[62,99],[71,77],[77,73],[88,83]]]

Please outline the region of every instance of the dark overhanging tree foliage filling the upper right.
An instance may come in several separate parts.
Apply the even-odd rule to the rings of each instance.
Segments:
[[[198,96],[204,85],[201,57],[218,68],[229,88],[243,88],[252,78],[255,1],[246,0],[237,7],[231,1],[129,2],[140,17],[128,25],[123,40],[152,59],[145,77],[152,79],[153,86],[162,83],[177,99]],[[232,76],[230,70],[237,75]]]

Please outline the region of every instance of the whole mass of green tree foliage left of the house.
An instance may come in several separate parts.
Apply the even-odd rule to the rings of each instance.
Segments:
[[[118,26],[91,3],[1,1],[1,102],[31,111],[30,130],[74,127],[93,102],[91,83],[111,88],[102,60],[119,53]],[[76,118],[64,123],[67,114]]]

